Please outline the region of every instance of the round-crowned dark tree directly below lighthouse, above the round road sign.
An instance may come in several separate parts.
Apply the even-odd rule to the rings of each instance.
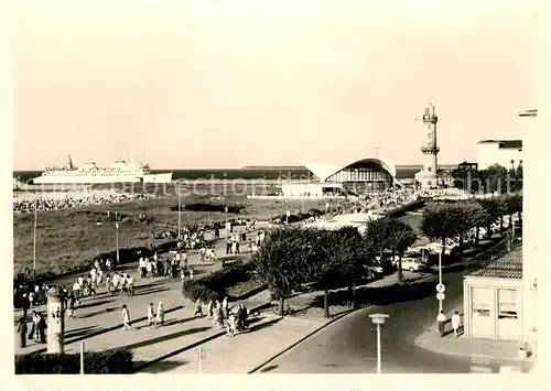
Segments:
[[[421,231],[431,240],[441,240],[446,245],[447,238],[453,238],[466,230],[467,219],[462,208],[453,204],[431,204],[424,209],[421,220]]]

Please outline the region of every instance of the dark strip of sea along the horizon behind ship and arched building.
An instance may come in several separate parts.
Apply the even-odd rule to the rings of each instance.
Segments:
[[[447,166],[442,166],[447,167]],[[398,180],[413,178],[422,165],[397,165]],[[305,167],[245,167],[245,169],[195,169],[195,170],[151,170],[153,174],[173,172],[173,180],[279,180],[279,178],[306,178],[310,172]],[[40,176],[42,171],[14,171],[13,176],[22,182],[28,182]]]

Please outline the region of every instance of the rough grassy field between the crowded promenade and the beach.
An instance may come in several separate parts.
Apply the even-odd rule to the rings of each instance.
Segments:
[[[182,197],[182,205],[201,202],[198,196]],[[213,204],[222,203],[215,200]],[[257,217],[268,219],[271,215],[284,214],[285,210],[300,211],[301,200],[247,199],[245,197],[228,197],[228,204],[241,204],[245,208],[233,217]],[[304,210],[324,208],[324,202],[304,200]],[[107,217],[118,211],[123,216],[119,228],[119,248],[131,248],[156,245],[151,232],[162,228],[177,229],[177,211],[171,207],[177,206],[177,198],[158,198],[140,202],[120,203],[111,205],[68,208],[61,210],[39,211],[36,228],[36,273],[62,273],[78,270],[86,261],[101,252],[115,250],[115,222]],[[139,221],[138,215],[144,214],[145,221]],[[182,225],[207,224],[225,220],[224,213],[182,211]],[[101,221],[98,226],[96,222]],[[33,264],[33,214],[13,215],[13,270],[15,273]]]

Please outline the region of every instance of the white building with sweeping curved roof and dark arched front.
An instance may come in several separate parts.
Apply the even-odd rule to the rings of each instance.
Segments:
[[[322,164],[302,161],[311,172],[307,182],[282,184],[285,197],[324,197],[346,193],[380,192],[396,183],[393,163],[377,158],[364,156],[344,164]]]

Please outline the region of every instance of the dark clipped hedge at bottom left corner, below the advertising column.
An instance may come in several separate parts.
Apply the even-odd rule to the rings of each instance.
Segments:
[[[85,351],[84,372],[132,373],[133,351],[117,348],[104,351]],[[77,374],[80,372],[80,354],[15,355],[15,374]]]

